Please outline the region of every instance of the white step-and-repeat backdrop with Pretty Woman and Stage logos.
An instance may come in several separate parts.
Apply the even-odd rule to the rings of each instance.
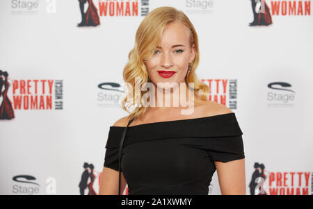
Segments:
[[[99,193],[122,70],[159,6],[191,19],[198,77],[236,113],[247,194],[313,194],[310,0],[1,0],[0,194]]]

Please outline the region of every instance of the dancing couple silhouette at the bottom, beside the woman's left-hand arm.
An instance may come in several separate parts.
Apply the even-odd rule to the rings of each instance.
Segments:
[[[95,181],[95,174],[93,174],[93,169],[95,168],[93,164],[83,163],[83,168],[85,171],[81,174],[81,182],[79,183],[79,192],[81,195],[85,195],[85,190],[88,187],[88,195],[97,195],[93,189],[93,183]],[[90,169],[90,172],[89,172]],[[90,178],[90,182],[88,179]]]

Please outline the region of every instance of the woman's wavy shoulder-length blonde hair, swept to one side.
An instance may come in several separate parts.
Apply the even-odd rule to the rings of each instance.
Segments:
[[[145,85],[147,82],[151,82],[144,62],[153,56],[155,49],[159,42],[161,42],[161,35],[164,28],[172,22],[184,24],[190,32],[190,46],[195,44],[195,59],[191,62],[191,70],[188,70],[185,82],[187,84],[194,83],[194,94],[200,95],[200,100],[208,99],[209,86],[202,83],[202,81],[200,81],[195,75],[195,69],[198,67],[199,63],[198,35],[195,32],[195,28],[184,12],[170,6],[162,6],[149,12],[143,19],[143,22],[138,26],[135,37],[135,46],[129,52],[129,61],[123,71],[125,83],[132,87],[122,100],[122,108],[129,112],[129,119],[143,115],[146,110],[145,106],[141,106],[143,101],[140,99],[138,102],[138,97],[142,98],[143,94],[147,91],[143,91],[140,88],[140,94],[135,94],[135,78],[139,78],[140,86]],[[195,97],[195,103],[198,103],[197,97]],[[135,108],[134,110],[129,111],[127,108],[131,106],[135,106]]]

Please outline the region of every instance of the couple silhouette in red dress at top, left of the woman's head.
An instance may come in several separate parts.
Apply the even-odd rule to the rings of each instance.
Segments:
[[[93,4],[93,0],[78,0],[79,8],[81,10],[81,22],[77,24],[77,27],[81,26],[97,26],[100,24],[97,8]],[[88,1],[88,8],[86,13],[84,12],[85,3]]]

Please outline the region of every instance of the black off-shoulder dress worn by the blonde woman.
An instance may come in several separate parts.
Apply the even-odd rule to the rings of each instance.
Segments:
[[[104,167],[118,171],[124,128],[110,126]],[[242,134],[234,112],[129,126],[121,160],[129,195],[207,195],[214,161],[245,158]]]

